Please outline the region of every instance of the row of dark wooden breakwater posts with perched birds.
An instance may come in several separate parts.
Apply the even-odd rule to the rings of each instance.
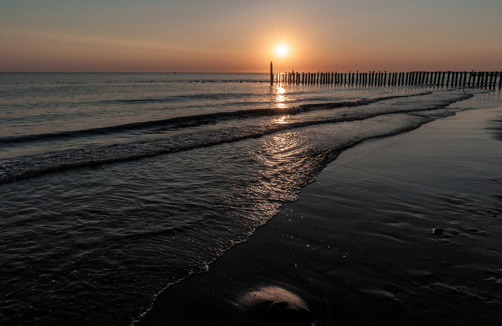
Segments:
[[[274,78],[275,77],[275,78]],[[498,83],[497,83],[498,82]],[[414,71],[408,73],[270,73],[270,84],[342,84],[366,86],[407,86],[407,85],[437,85],[437,86],[473,86],[495,88],[502,87],[502,72],[452,72]]]

